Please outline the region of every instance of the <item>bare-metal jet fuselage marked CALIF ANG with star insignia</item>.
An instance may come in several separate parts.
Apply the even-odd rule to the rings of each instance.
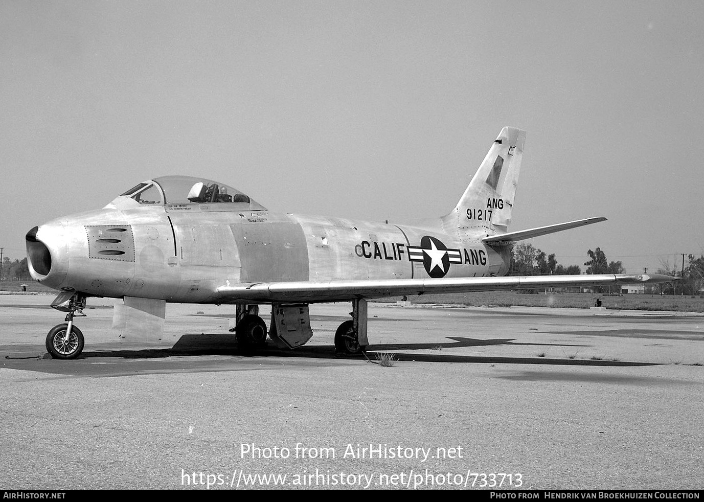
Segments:
[[[108,207],[39,227],[35,237],[53,259],[48,273],[36,271],[56,289],[176,303],[219,303],[218,287],[243,282],[505,274],[509,251],[476,233],[460,239],[455,229],[452,237],[440,219],[402,225],[216,205]]]

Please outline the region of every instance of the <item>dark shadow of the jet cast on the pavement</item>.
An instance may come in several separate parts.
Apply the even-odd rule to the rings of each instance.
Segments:
[[[367,346],[367,354],[359,356],[345,356],[335,353],[333,346],[303,346],[293,351],[277,349],[272,344],[263,348],[239,349],[232,334],[185,334],[171,349],[137,349],[137,350],[106,350],[85,351],[82,358],[125,358],[149,359],[168,358],[173,356],[244,356],[244,357],[287,357],[287,358],[315,358],[315,359],[349,359],[371,360],[375,362],[376,354],[391,351],[396,360],[416,361],[426,363],[503,363],[503,364],[551,364],[551,365],[583,365],[583,366],[645,366],[653,363],[636,363],[615,360],[583,360],[583,359],[555,359],[545,357],[495,357],[495,356],[462,356],[458,354],[441,353],[443,349],[458,349],[463,347],[492,346],[492,345],[538,345],[538,346],[566,346],[585,347],[585,345],[555,345],[555,344],[514,344],[510,338],[506,339],[472,339],[464,337],[450,337],[453,341],[441,343],[421,344],[377,344]],[[399,351],[434,350],[437,353],[406,353]]]

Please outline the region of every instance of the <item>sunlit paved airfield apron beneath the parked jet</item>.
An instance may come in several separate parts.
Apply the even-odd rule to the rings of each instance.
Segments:
[[[238,472],[520,473],[523,488],[704,479],[701,315],[370,303],[369,358],[399,359],[384,368],[334,355],[346,303],[311,306],[315,335],[299,350],[243,354],[234,308],[169,305],[153,346],[116,341],[115,300],[91,299],[82,358],[44,360],[63,320],[50,301],[0,296],[7,488],[192,488],[184,473],[199,472],[227,479],[213,488]],[[298,444],[336,456],[293,458]],[[358,444],[461,446],[462,458],[344,456]],[[291,456],[243,453],[277,446]]]

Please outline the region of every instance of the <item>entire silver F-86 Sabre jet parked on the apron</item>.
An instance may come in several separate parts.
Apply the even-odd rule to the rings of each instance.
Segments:
[[[102,209],[65,216],[27,233],[32,277],[60,294],[65,322],[46,337],[54,358],[80,355],[73,323],[91,296],[123,299],[121,337],[161,338],[165,303],[236,306],[238,346],[305,344],[310,303],[349,301],[335,349],[368,344],[367,300],[423,293],[664,282],[664,275],[503,277],[512,244],[589,225],[587,218],[508,232],[525,132],[504,127],[457,205],[415,223],[367,222],[268,211],[246,194],[197,177],[137,184]],[[270,327],[258,315],[270,305]]]

